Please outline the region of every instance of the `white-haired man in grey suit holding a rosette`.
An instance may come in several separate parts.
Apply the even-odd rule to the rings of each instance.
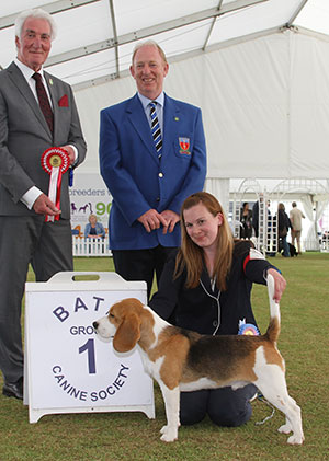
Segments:
[[[71,88],[42,68],[55,31],[45,11],[21,13],[15,22],[18,57],[0,72],[0,369],[2,393],[16,399],[23,397],[21,303],[29,263],[37,281],[72,270],[68,172],[55,204],[42,154],[60,147],[73,168],[86,155]]]

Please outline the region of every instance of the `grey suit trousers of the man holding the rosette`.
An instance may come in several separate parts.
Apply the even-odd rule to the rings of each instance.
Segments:
[[[70,221],[0,216],[0,369],[5,381],[15,382],[23,376],[21,306],[29,263],[36,281],[72,270]]]

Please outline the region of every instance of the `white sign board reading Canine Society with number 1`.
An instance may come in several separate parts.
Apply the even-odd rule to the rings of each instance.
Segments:
[[[146,303],[146,284],[115,273],[77,281],[82,275],[59,273],[47,283],[26,283],[24,403],[30,423],[50,413],[141,411],[155,417],[152,381],[137,348],[117,354],[92,327],[121,299]]]

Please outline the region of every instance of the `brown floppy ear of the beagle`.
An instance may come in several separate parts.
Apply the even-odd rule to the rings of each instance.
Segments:
[[[140,338],[140,319],[135,312],[128,312],[118,325],[113,338],[113,347],[117,353],[132,350]]]

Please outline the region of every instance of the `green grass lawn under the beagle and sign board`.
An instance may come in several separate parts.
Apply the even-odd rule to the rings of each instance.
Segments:
[[[208,419],[182,427],[179,440],[163,443],[159,430],[166,416],[155,385],[156,419],[141,413],[61,414],[29,423],[27,407],[0,395],[0,461],[203,461],[329,460],[329,254],[305,253],[270,258],[283,273],[287,288],[281,302],[279,348],[286,360],[290,394],[303,412],[305,445],[292,447],[276,429],[284,417],[254,401],[251,420],[220,428]],[[110,258],[76,258],[77,272],[112,270]],[[33,280],[32,273],[29,280]],[[269,322],[266,289],[254,286],[253,310],[262,332]],[[2,378],[0,378],[2,380]],[[2,382],[0,382],[2,384]]]

